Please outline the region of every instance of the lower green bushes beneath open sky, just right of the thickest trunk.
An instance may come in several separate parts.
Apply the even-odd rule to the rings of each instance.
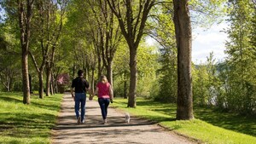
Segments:
[[[205,64],[201,63],[193,68],[193,97],[195,104],[218,106],[218,97],[222,94],[221,87],[217,64],[213,59],[213,53],[210,53]]]

